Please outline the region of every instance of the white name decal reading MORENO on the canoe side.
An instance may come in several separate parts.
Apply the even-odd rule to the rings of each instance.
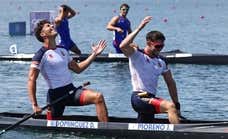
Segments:
[[[129,123],[128,130],[173,131],[173,124]]]

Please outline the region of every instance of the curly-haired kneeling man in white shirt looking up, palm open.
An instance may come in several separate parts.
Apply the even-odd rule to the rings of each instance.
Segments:
[[[47,103],[50,104],[56,99],[59,99],[66,94],[69,94],[70,91],[76,89],[72,83],[70,70],[75,73],[81,73],[84,71],[96,56],[102,53],[107,44],[104,40],[99,41],[97,45],[92,47],[92,54],[86,60],[77,63],[69,56],[65,49],[56,46],[55,38],[57,32],[49,21],[40,21],[34,32],[36,38],[40,42],[43,42],[43,47],[37,51],[32,59],[28,75],[28,92],[33,111],[35,113],[40,113],[42,110],[36,99],[36,80],[39,76],[39,72],[41,72],[49,86]],[[52,120],[61,118],[65,106],[81,106],[88,104],[96,105],[96,112],[99,121],[108,121],[108,111],[103,95],[86,88],[76,90],[75,94],[71,94],[60,103],[49,107],[47,119]]]

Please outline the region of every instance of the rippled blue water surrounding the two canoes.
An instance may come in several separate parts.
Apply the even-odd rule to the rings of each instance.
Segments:
[[[0,0],[0,54],[9,54],[9,46],[17,44],[20,53],[33,53],[40,48],[34,36],[10,37],[8,23],[26,21],[29,30],[29,12],[57,11],[60,4],[68,4],[80,14],[70,20],[73,40],[84,53],[91,44],[106,39],[105,53],[114,52],[112,32],[105,29],[107,22],[118,13],[119,5],[130,5],[128,18],[134,29],[146,15],[153,20],[137,36],[135,42],[143,47],[145,33],[160,30],[166,36],[164,51],[180,49],[191,53],[228,54],[228,1],[225,0]],[[115,10],[117,11],[115,13]],[[167,20],[165,22],[164,20]],[[228,119],[228,66],[170,65],[178,87],[182,114],[189,119]],[[29,62],[0,62],[0,112],[28,112],[31,105],[27,96]],[[73,74],[75,85],[85,81],[89,88],[104,94],[110,116],[136,117],[130,105],[131,83],[127,63],[93,63],[80,75]],[[45,105],[47,86],[38,79],[37,98]],[[159,96],[170,99],[167,87],[159,80]],[[95,115],[93,105],[69,107],[66,114]],[[166,117],[158,115],[157,117]],[[12,130],[0,138],[105,138],[77,133]]]

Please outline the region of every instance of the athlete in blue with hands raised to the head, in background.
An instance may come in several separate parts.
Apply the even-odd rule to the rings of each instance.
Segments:
[[[55,18],[56,30],[60,36],[60,45],[64,47],[67,51],[80,55],[81,51],[77,45],[72,41],[70,37],[70,29],[68,19],[75,16],[75,11],[67,5],[61,5],[59,9],[59,14]]]

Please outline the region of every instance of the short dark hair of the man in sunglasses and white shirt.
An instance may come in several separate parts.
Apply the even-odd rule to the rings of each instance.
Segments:
[[[160,31],[150,31],[146,34],[147,41],[165,41],[165,36]]]

